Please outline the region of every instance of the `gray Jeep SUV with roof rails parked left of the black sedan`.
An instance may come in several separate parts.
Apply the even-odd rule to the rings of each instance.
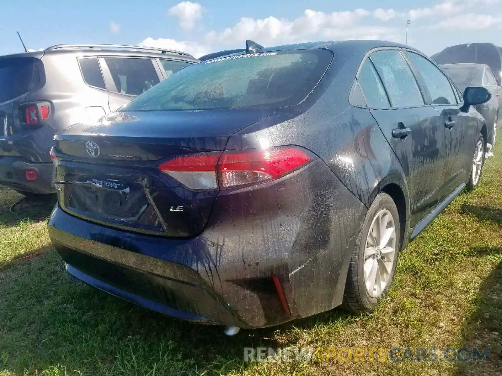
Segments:
[[[198,62],[184,52],[118,45],[57,45],[0,57],[0,184],[56,192],[54,134],[114,111]]]

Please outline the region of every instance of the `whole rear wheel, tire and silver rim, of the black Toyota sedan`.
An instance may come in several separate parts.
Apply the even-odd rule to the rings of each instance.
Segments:
[[[400,249],[399,214],[392,198],[380,193],[369,207],[350,260],[345,305],[372,312],[389,293]]]

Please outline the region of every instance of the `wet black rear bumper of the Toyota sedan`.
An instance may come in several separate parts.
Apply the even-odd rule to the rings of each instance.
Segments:
[[[319,162],[284,181],[219,195],[193,238],[123,231],[59,205],[48,230],[69,270],[97,288],[176,317],[258,328],[341,304],[365,213]]]

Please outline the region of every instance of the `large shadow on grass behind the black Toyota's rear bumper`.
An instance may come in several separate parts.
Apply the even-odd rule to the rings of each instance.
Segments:
[[[243,330],[178,321],[80,283],[56,251],[0,270],[0,370],[82,374],[235,373],[250,364],[244,347],[279,347],[274,330]],[[72,374],[72,373],[69,373]]]

